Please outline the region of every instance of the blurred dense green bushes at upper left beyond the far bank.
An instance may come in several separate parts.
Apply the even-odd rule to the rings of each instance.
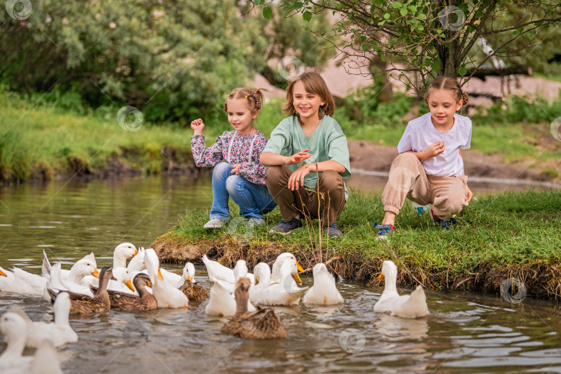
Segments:
[[[255,73],[285,84],[271,59],[326,64],[326,42],[306,31],[326,27],[325,18],[267,20],[249,10],[231,0],[34,1],[22,21],[0,12],[0,82],[48,91],[42,100],[78,113],[132,105],[146,121],[186,124]]]

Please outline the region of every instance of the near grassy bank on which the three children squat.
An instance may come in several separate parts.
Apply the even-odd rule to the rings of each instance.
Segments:
[[[188,211],[152,247],[164,260],[199,262],[208,253],[231,267],[240,258],[250,267],[271,262],[283,251],[294,253],[305,268],[336,258],[330,267],[337,274],[370,282],[378,282],[382,261],[391,259],[400,269],[400,285],[416,284],[416,278],[440,290],[498,292],[501,283],[515,277],[526,284],[529,296],[561,297],[561,191],[479,197],[450,231],[433,226],[429,215],[414,213],[410,204],[406,201],[398,216],[388,247],[368,228],[383,216],[380,195],[359,193],[350,195],[338,219],[344,237],[322,238],[321,250],[317,220],[314,232],[308,223],[287,236],[268,234],[281,220],[278,208],[267,216],[266,227],[253,231],[240,223],[235,208],[222,231],[202,229],[207,211]]]

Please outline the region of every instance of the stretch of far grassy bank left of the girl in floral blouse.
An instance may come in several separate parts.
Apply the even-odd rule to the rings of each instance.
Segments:
[[[0,107],[0,180],[99,170],[152,174],[193,163],[191,131],[150,123],[127,131],[116,121],[118,109],[80,115],[8,94],[0,94]]]

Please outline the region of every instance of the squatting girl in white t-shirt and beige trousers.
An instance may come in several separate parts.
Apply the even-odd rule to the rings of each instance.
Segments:
[[[425,96],[430,112],[414,119],[398,144],[398,157],[391,163],[389,180],[382,193],[384,220],[375,222],[378,238],[395,230],[395,216],[405,198],[431,205],[436,224],[449,229],[472,198],[463,171],[461,150],[470,148],[472,121],[456,114],[467,104],[467,95],[452,78],[436,78]]]

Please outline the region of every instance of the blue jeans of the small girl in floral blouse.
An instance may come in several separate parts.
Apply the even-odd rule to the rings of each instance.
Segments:
[[[240,206],[240,215],[247,218],[265,218],[263,214],[269,213],[276,206],[267,186],[251,183],[239,175],[230,174],[232,169],[227,162],[218,163],[214,167],[211,218],[228,219],[230,216],[229,197]]]

